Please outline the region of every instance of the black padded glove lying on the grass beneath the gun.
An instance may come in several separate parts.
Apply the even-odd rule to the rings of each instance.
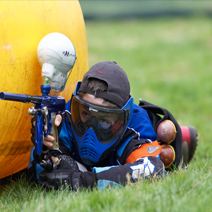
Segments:
[[[39,183],[47,188],[63,189],[70,188],[77,191],[79,188],[93,188],[97,182],[96,174],[93,172],[82,172],[77,162],[65,156],[60,157],[58,169],[53,171],[42,171],[39,174]]]

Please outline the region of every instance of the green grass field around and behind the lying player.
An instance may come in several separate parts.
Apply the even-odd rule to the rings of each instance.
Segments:
[[[89,65],[114,60],[131,93],[193,125],[199,145],[187,169],[165,179],[93,192],[46,192],[24,176],[4,186],[0,211],[212,211],[211,19],[86,22]]]

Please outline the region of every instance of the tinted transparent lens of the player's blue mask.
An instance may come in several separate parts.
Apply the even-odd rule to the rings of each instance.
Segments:
[[[75,132],[79,136],[92,128],[99,141],[104,142],[124,132],[129,110],[101,107],[90,104],[79,96],[73,96],[71,114]]]

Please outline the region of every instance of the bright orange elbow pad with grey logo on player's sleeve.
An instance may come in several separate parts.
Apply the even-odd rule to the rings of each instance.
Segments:
[[[150,148],[149,148],[150,147]],[[154,147],[154,148],[152,148]],[[143,144],[138,149],[134,150],[127,158],[126,163],[133,163],[139,158],[155,157],[161,153],[161,146],[158,141]]]

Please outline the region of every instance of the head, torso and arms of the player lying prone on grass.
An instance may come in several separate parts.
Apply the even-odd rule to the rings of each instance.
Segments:
[[[60,154],[42,166],[33,149],[28,167],[29,176],[44,186],[103,189],[165,175],[153,124],[134,104],[128,77],[115,62],[97,63],[85,73],[55,125]],[[44,149],[53,141],[45,137]]]

